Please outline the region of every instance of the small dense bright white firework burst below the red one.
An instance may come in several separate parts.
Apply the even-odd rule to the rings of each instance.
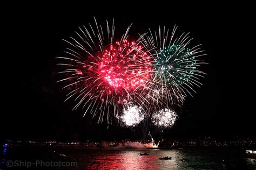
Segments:
[[[137,106],[128,107],[127,110],[124,109],[124,115],[121,116],[122,121],[127,126],[135,126],[139,124],[143,119],[144,115],[142,111]]]

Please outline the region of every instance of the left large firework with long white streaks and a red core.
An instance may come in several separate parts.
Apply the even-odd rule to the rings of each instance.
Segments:
[[[114,41],[113,23],[110,29],[106,21],[104,29],[95,19],[94,27],[79,27],[75,38],[64,40],[68,43],[64,56],[57,57],[61,61],[58,65],[63,66],[57,82],[64,83],[66,100],[73,98],[73,110],[84,108],[84,116],[90,112],[98,116],[98,123],[104,117],[107,123],[119,117],[123,106],[132,103],[134,89],[151,79],[151,56],[138,40],[128,39],[130,26]]]

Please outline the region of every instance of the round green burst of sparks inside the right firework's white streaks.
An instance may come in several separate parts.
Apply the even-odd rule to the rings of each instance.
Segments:
[[[167,84],[183,84],[193,77],[197,61],[189,48],[172,45],[159,49],[155,59],[156,75]]]

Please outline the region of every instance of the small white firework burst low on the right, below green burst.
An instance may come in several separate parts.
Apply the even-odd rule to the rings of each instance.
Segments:
[[[177,119],[177,114],[171,109],[162,109],[152,115],[152,123],[160,128],[171,128]]]

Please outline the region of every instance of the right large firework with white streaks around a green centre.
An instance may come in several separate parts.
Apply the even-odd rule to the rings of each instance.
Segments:
[[[200,87],[199,77],[205,73],[199,70],[203,60],[199,59],[204,51],[200,45],[189,47],[192,39],[188,33],[174,38],[177,26],[174,26],[172,34],[169,30],[159,27],[159,32],[154,31],[150,36],[143,37],[144,46],[150,51],[153,58],[152,78],[144,86],[149,103],[183,103],[187,94],[191,94],[194,86]],[[138,92],[140,93],[140,92]],[[163,107],[162,107],[163,108]]]

